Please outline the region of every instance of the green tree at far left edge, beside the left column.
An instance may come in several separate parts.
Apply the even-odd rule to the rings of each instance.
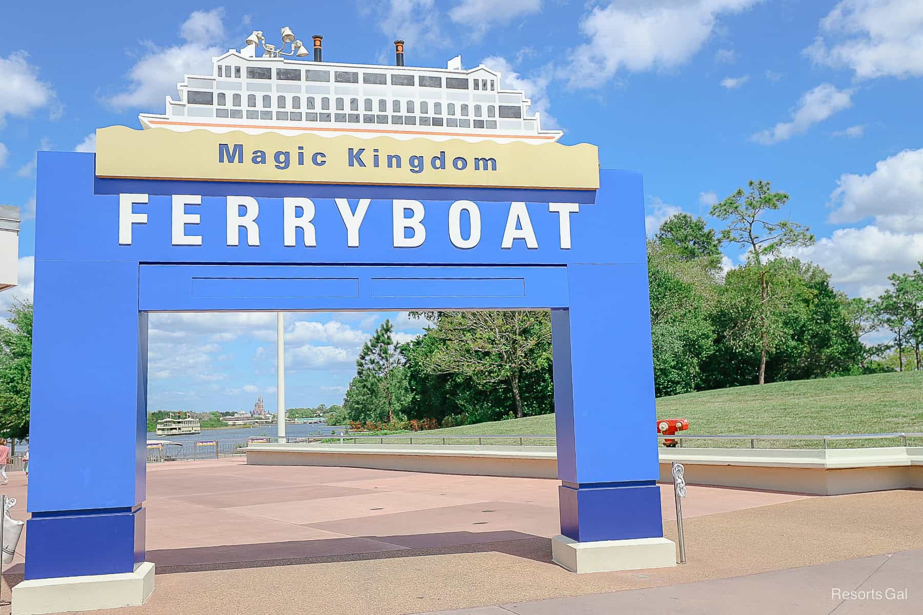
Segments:
[[[32,303],[15,302],[0,326],[0,434],[29,437],[32,383]]]

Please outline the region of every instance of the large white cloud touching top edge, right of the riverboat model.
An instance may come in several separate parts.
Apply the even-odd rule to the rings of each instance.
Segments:
[[[759,0],[629,0],[593,6],[581,19],[589,41],[570,52],[564,76],[574,87],[605,83],[620,70],[684,65],[712,36],[718,18]]]

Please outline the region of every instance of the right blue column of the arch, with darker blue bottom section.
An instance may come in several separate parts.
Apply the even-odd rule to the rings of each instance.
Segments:
[[[646,265],[568,266],[551,313],[561,534],[664,535]]]

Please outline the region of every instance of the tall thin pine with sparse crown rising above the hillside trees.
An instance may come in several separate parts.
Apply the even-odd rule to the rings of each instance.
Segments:
[[[721,241],[736,243],[747,250],[748,268],[755,276],[756,283],[752,284],[749,278],[740,278],[738,281],[742,283],[737,285],[736,290],[753,292],[756,301],[744,303],[747,312],[740,313],[740,323],[746,325],[746,330],[742,330],[746,334],[743,337],[752,338],[759,345],[760,369],[757,382],[764,384],[766,359],[778,331],[778,324],[773,322],[773,318],[785,308],[784,303],[773,298],[773,269],[770,263],[785,248],[810,245],[814,242],[814,236],[807,227],[789,220],[771,222],[764,218],[770,211],[785,205],[788,195],[773,192],[772,185],[762,180],[750,180],[748,188],[747,193],[738,188],[733,195],[716,203],[711,213],[715,218],[727,222],[727,228],[721,231]]]

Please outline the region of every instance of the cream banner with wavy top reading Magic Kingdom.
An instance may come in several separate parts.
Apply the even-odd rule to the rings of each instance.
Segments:
[[[222,182],[595,190],[599,152],[588,143],[469,143],[110,126],[96,131],[96,174]]]

